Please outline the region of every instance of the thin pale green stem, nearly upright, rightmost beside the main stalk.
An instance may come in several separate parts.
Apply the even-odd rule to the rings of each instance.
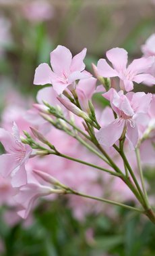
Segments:
[[[144,192],[144,195],[145,195],[145,198],[146,198],[146,202],[147,202],[147,205],[148,205],[148,208],[149,208],[150,205],[149,205],[149,202],[148,202],[148,194],[146,192],[146,187],[145,187],[145,184],[144,184],[144,175],[143,175],[143,171],[142,171],[142,165],[141,165],[141,159],[140,159],[140,149],[139,148],[135,148],[135,155],[136,155],[136,158],[137,158],[137,166],[138,166],[138,169],[139,169],[139,172],[140,172],[140,179],[141,179],[141,183],[142,183],[142,189],[143,189],[143,192]]]

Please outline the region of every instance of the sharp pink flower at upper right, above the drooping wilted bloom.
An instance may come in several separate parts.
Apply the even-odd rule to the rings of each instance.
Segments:
[[[155,78],[148,73],[154,63],[154,57],[133,60],[127,67],[127,51],[123,48],[113,48],[106,51],[106,57],[113,64],[113,68],[104,59],[98,60],[97,72],[102,77],[119,77],[121,89],[131,91],[133,82],[150,85],[155,83]]]

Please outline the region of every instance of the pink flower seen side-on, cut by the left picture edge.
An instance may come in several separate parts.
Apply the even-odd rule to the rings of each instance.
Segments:
[[[22,144],[18,127],[13,123],[13,133],[5,129],[0,129],[0,141],[3,144],[7,154],[0,156],[0,173],[3,177],[11,176],[13,186],[26,184],[25,164],[30,157],[32,148]]]

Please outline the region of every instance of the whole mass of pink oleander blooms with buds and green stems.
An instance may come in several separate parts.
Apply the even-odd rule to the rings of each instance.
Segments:
[[[129,66],[125,49],[107,51],[113,67],[98,60],[97,66],[92,65],[96,77],[85,70],[86,48],[72,57],[69,49],[58,45],[51,52],[51,67],[43,63],[36,68],[34,85],[50,86],[38,91],[30,110],[21,114],[22,108],[15,107],[15,118],[4,113],[1,126],[9,131],[0,129],[5,148],[0,173],[14,191],[21,217],[28,216],[37,198],[53,200],[67,194],[80,219],[101,211],[98,201],[103,201],[140,211],[155,221],[140,163],[141,154],[143,163],[154,164],[155,97],[142,89],[133,91],[134,83],[155,84],[153,39],[142,47],[144,57]],[[108,106],[102,109],[94,95],[106,99]],[[107,194],[108,199],[102,198]],[[88,198],[96,199],[96,204]],[[116,200],[133,200],[136,207],[139,201],[142,209]]]

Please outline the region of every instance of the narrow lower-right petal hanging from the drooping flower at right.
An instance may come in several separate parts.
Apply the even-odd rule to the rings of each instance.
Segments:
[[[138,133],[136,124],[135,124],[135,127],[131,127],[130,123],[127,122],[126,137],[127,137],[127,140],[129,140],[130,144],[133,146],[133,148],[135,148],[139,138],[139,133]]]

